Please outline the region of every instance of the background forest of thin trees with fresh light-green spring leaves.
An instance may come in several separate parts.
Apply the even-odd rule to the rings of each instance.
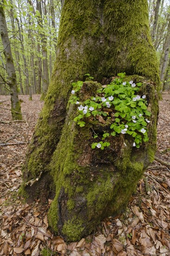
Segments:
[[[56,56],[60,0],[5,0],[5,15],[19,94],[44,99]],[[170,1],[149,0],[150,33],[160,63],[162,89],[170,88]],[[9,94],[0,38],[0,94]]]

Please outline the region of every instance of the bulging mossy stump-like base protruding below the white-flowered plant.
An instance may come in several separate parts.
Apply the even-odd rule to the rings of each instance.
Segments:
[[[131,79],[128,77],[128,81]],[[133,76],[135,79],[144,81],[140,76]],[[95,95],[100,86],[97,82],[85,82],[79,93],[80,101]],[[104,217],[121,213],[144,169],[153,161],[157,97],[151,82],[145,81],[141,91],[150,97],[152,126],[150,142],[140,149],[132,147],[129,135],[122,134],[109,137],[109,148],[92,149],[94,132],[100,135],[111,132],[110,124],[87,121],[85,127],[79,128],[73,121],[77,110],[73,105],[69,107],[61,139],[50,163],[56,195],[48,215],[53,230],[65,240],[77,241],[91,233]]]

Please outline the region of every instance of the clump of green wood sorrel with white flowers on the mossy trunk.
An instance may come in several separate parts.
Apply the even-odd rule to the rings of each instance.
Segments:
[[[89,76],[90,74],[86,74]],[[146,95],[137,94],[142,83],[135,84],[133,81],[124,81],[125,73],[118,74],[111,84],[101,86],[97,95],[92,95],[84,102],[79,102],[76,93],[81,89],[83,82],[72,83],[72,96],[69,102],[78,106],[78,115],[74,121],[80,127],[85,126],[85,118],[100,117],[105,120],[111,120],[110,133],[104,133],[102,140],[92,143],[92,148],[101,148],[110,146],[110,142],[105,141],[109,136],[116,136],[120,133],[131,135],[133,138],[133,147],[140,147],[142,141],[146,142],[148,138],[147,125],[150,121],[147,119],[151,113],[147,110]],[[100,120],[98,118],[98,120]],[[94,138],[98,138],[95,134]]]

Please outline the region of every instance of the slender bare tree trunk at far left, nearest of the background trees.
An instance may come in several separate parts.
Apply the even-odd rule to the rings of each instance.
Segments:
[[[13,56],[11,52],[11,45],[7,33],[7,23],[5,13],[2,6],[0,6],[0,35],[4,47],[4,55],[6,58],[6,67],[9,80],[10,94],[11,94],[11,113],[13,120],[22,120],[20,101],[18,98],[18,88],[15,67],[13,64]]]

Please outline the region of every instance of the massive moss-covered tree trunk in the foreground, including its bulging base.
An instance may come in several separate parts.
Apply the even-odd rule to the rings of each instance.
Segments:
[[[132,147],[128,135],[111,139],[111,148],[91,148],[92,131],[110,125],[73,121],[68,104],[72,82],[83,81],[81,101],[96,94],[118,72],[142,81],[151,109],[149,143]],[[65,0],[59,28],[57,60],[51,84],[23,168],[23,188],[30,200],[55,194],[49,211],[51,227],[73,241],[89,234],[105,216],[120,213],[156,151],[157,59],[151,45],[147,0]],[[126,146],[125,146],[126,144]],[[36,181],[38,179],[38,181]],[[30,186],[31,185],[31,186]]]

